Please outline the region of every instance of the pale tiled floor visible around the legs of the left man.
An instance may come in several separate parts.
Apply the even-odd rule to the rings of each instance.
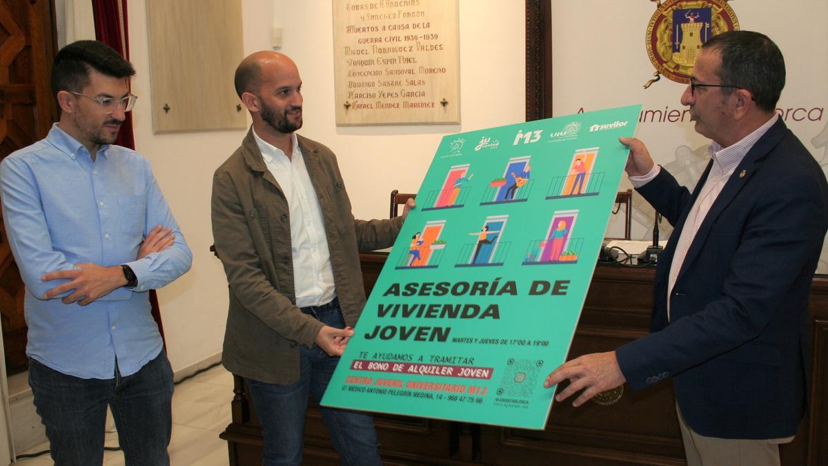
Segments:
[[[219,434],[230,423],[230,400],[233,400],[233,376],[222,366],[216,366],[176,385],[172,396],[170,464],[228,464],[227,442],[219,439]],[[106,434],[106,439],[107,446],[118,445],[117,433]],[[48,448],[48,444],[42,444],[20,453],[35,453]],[[20,459],[12,464],[46,466],[54,463],[49,454],[43,454],[37,458]],[[103,464],[123,465],[123,453],[106,452],[103,454]]]

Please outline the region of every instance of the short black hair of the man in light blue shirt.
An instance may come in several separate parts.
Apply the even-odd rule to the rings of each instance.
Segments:
[[[135,75],[132,64],[112,47],[99,41],[76,41],[55,55],[51,75],[54,95],[61,90],[80,92],[89,85],[89,69],[113,78]]]

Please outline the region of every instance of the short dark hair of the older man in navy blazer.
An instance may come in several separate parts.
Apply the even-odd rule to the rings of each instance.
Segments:
[[[720,53],[717,75],[722,83],[749,90],[759,109],[776,109],[785,87],[785,59],[768,36],[753,31],[722,32],[710,37],[702,48]]]

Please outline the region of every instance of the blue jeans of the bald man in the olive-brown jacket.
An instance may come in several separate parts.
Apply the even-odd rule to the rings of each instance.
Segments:
[[[337,299],[323,306],[302,308],[302,312],[330,327],[345,327]],[[302,463],[308,394],[312,393],[316,400],[322,399],[339,362],[339,357],[330,357],[319,347],[300,346],[299,349],[300,374],[296,383],[277,385],[245,378],[256,414],[262,422],[264,466]],[[321,412],[342,464],[383,464],[379,459],[377,432],[371,415],[325,407],[321,407]]]

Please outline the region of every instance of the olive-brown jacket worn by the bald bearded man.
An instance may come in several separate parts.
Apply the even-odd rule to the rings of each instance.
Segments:
[[[319,197],[339,304],[354,327],[365,305],[359,252],[392,245],[402,218],[355,220],[334,153],[310,139],[298,141]],[[230,294],[224,367],[257,381],[296,382],[298,345],[313,347],[323,324],[296,307],[290,212],[252,130],[214,173],[212,220]]]

